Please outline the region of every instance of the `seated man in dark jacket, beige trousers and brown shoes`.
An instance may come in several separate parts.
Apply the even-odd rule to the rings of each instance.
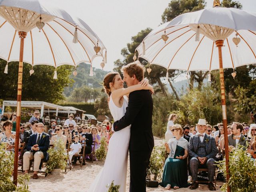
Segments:
[[[32,134],[28,140],[27,150],[23,155],[23,169],[25,173],[29,171],[30,160],[34,159],[33,179],[38,179],[38,170],[42,159],[48,160],[47,150],[50,145],[50,136],[44,133],[44,124],[36,125],[37,132]]]

